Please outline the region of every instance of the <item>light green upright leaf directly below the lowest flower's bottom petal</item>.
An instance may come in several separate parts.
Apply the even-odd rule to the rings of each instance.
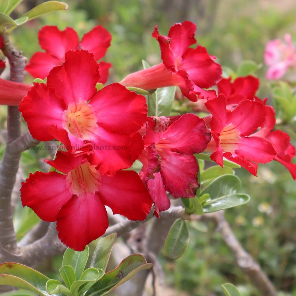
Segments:
[[[68,248],[63,256],[63,266],[70,265],[75,272],[76,280],[81,278],[81,275],[89,258],[89,247],[86,246],[84,251],[78,252]]]

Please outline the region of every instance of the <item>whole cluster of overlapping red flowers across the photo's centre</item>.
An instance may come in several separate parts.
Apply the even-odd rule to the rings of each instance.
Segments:
[[[214,56],[202,46],[189,47],[196,43],[195,30],[188,21],[173,25],[168,36],[155,27],[152,36],[163,63],[99,91],[96,83],[107,76],[104,62],[96,61],[110,45],[107,30],[97,26],[80,43],[71,28],[40,30],[46,52],[34,54],[26,69],[34,77],[47,77],[46,84],[34,83],[19,110],[34,138],[57,139],[67,150],[45,160],[56,171],[30,174],[21,200],[41,219],[57,221],[59,238],[69,247],[83,250],[104,234],[105,206],[144,220],[152,204],[157,217],[170,207],[168,193],[194,197],[199,188],[194,154],[203,151],[221,166],[225,157],[253,175],[258,163],[276,160],[296,178],[295,148],[286,133],[272,131],[274,109],[256,96],[259,80],[221,78]],[[217,83],[218,93],[207,89]],[[191,101],[200,98],[209,115],[147,117],[146,98],[128,86],[178,86]],[[135,160],[143,165],[139,175],[125,170]]]

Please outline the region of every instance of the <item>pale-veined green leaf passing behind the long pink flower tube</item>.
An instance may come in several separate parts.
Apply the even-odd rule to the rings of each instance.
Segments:
[[[142,60],[144,69],[150,65]],[[176,87],[169,86],[157,89],[147,98],[148,116],[169,116],[175,98]]]

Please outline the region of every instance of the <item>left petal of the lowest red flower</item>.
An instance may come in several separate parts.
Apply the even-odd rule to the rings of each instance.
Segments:
[[[22,205],[44,221],[56,221],[60,208],[72,197],[66,177],[57,172],[30,174],[20,189]]]

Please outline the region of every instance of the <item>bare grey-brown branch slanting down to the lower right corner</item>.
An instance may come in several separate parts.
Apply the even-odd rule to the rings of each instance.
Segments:
[[[224,242],[234,254],[237,265],[249,276],[261,295],[276,296],[275,287],[263,272],[260,265],[254,261],[252,256],[239,243],[229,223],[225,220],[224,213],[217,212],[212,215],[204,215],[203,218],[211,218],[216,221],[218,231],[221,232]]]

